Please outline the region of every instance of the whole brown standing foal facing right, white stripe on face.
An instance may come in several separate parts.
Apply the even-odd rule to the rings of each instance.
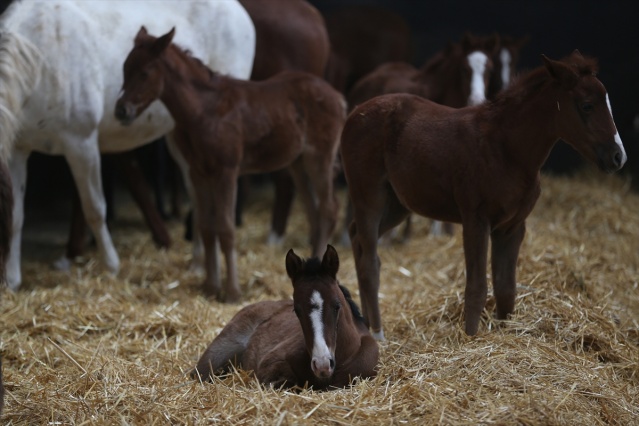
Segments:
[[[409,212],[461,223],[465,332],[478,332],[491,241],[497,318],[514,310],[525,221],[540,169],[558,140],[605,172],[627,156],[594,59],[573,52],[513,82],[494,101],[461,109],[408,94],[380,96],[348,117],[341,158],[353,203],[349,234],[362,311],[384,338],[377,239]]]

